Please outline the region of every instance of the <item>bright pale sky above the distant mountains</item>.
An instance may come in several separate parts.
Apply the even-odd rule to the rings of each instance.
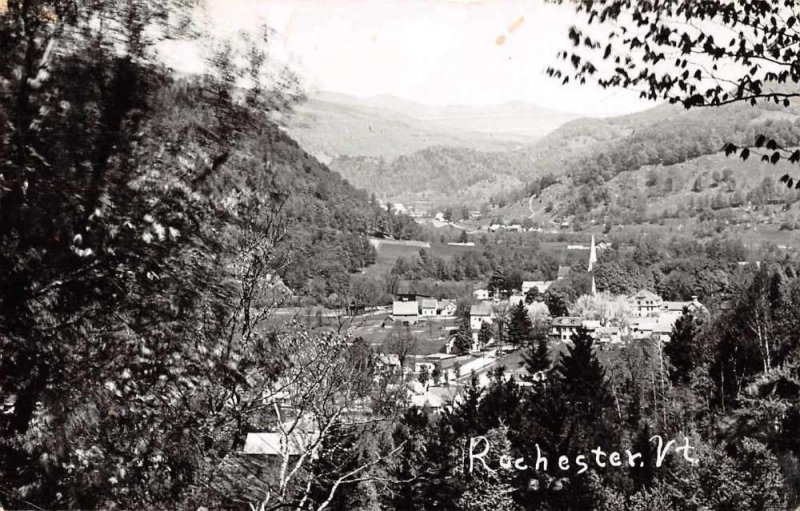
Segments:
[[[206,9],[218,34],[268,25],[273,54],[312,94],[430,105],[522,101],[588,116],[653,106],[630,91],[548,77],[547,66],[570,47],[576,15],[543,0],[208,0]]]

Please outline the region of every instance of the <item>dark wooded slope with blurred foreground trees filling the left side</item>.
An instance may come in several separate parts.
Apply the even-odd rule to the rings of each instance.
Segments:
[[[157,51],[197,37],[183,2],[2,6],[0,507],[241,506],[229,456],[286,419],[270,386],[358,381],[342,339],[264,333],[275,275],[326,297],[416,224],[276,124],[298,84],[263,41],[203,39],[186,78]]]

